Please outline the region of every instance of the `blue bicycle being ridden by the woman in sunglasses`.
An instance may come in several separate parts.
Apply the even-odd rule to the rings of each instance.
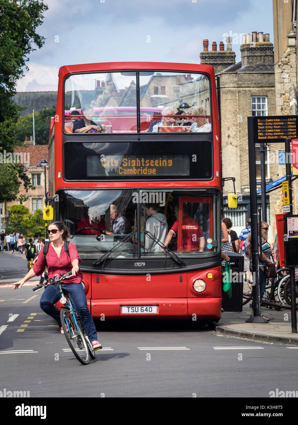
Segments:
[[[82,365],[88,365],[90,357],[91,359],[95,359],[94,348],[85,333],[82,320],[71,302],[67,290],[62,288],[60,283],[62,280],[67,279],[71,275],[71,272],[61,273],[60,278],[58,276],[54,276],[54,278],[44,280],[43,284],[34,286],[33,291],[39,291],[42,288],[45,289],[49,285],[57,285],[57,289],[61,295],[60,303],[64,304],[64,307],[60,312],[64,335],[75,357],[77,357]]]

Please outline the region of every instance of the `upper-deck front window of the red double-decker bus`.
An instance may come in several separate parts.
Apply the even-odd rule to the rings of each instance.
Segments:
[[[204,74],[72,74],[65,78],[64,91],[65,133],[181,133],[189,129],[205,133],[212,129],[210,81]]]

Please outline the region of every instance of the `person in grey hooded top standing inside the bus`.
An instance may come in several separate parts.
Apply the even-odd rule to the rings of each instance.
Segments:
[[[159,211],[158,204],[146,204],[145,212],[148,220],[146,221],[146,230],[150,232],[156,239],[164,244],[165,237],[167,235],[167,219],[165,214]],[[161,252],[162,247],[159,246],[150,235],[146,235],[145,239],[145,252]]]

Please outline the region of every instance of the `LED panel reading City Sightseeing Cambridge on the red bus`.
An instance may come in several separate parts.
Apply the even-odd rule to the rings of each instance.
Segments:
[[[188,155],[87,156],[87,176],[189,176]]]

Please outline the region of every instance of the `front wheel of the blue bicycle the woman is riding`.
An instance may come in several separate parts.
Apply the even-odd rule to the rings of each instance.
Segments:
[[[79,323],[74,321],[74,317],[68,309],[62,309],[60,312],[60,319],[64,335],[71,348],[71,351],[77,357],[82,365],[88,365],[90,361],[89,350],[85,340],[84,333]]]

